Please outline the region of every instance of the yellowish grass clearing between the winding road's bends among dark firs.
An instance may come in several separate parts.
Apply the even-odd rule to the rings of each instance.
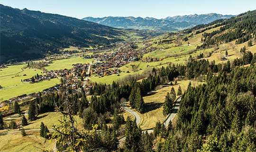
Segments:
[[[165,116],[163,115],[163,105],[166,93],[171,92],[172,87],[174,87],[175,92],[177,93],[179,86],[181,86],[184,93],[190,82],[192,86],[201,84],[201,82],[191,80],[177,81],[176,85],[163,87],[160,90],[157,90],[155,94],[143,97],[146,106],[150,110],[144,114],[139,114],[141,117],[140,127],[142,129],[149,129],[155,127],[157,121],[160,121],[161,123],[164,122]]]

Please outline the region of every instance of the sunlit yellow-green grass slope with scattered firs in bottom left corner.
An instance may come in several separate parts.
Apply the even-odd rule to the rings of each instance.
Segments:
[[[38,116],[36,121],[29,122],[29,125],[23,127],[25,131],[27,129],[40,129],[41,122],[43,122],[48,129],[52,128],[52,125],[58,125],[58,119],[62,117],[58,112],[47,112]],[[5,119],[5,118],[4,118]],[[17,118],[21,119],[21,118]],[[82,119],[75,116],[78,129],[82,129]],[[16,120],[16,121],[17,121]],[[10,120],[4,120],[5,123],[10,123]],[[18,131],[19,129],[9,130],[8,132]],[[6,130],[0,130],[0,133],[6,132]],[[50,130],[50,132],[52,132]],[[20,132],[11,133],[0,136],[0,150],[1,152],[38,152],[42,149],[53,148],[54,142],[50,143],[50,140],[46,140],[40,137],[40,131],[26,131],[27,136],[22,136]]]

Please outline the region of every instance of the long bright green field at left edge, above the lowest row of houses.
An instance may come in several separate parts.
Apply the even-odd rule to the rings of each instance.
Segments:
[[[9,98],[16,97],[22,94],[30,94],[41,92],[44,89],[52,87],[56,84],[60,84],[60,80],[57,78],[51,80],[40,81],[38,83],[30,84],[30,83],[21,83],[17,84],[13,87],[9,87],[8,89],[0,90],[0,98],[3,100],[8,100]]]

